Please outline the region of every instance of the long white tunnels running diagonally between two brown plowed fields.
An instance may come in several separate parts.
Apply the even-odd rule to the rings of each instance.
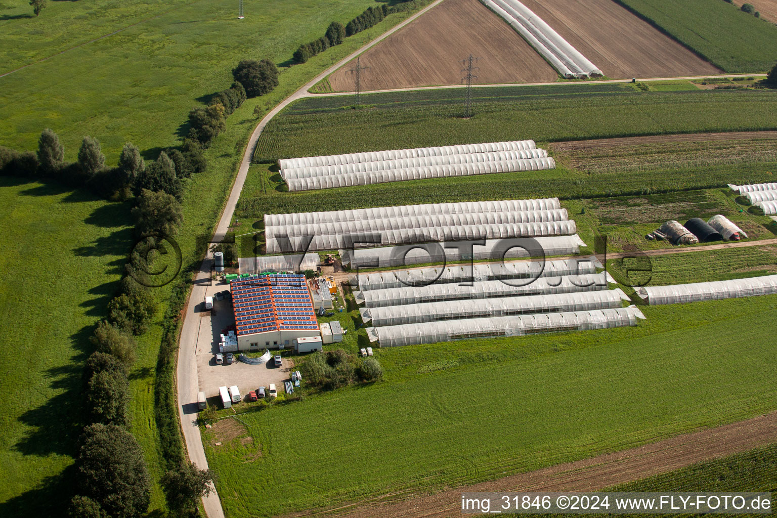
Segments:
[[[542,54],[566,78],[603,75],[591,61],[556,33],[535,12],[517,0],[481,0]]]

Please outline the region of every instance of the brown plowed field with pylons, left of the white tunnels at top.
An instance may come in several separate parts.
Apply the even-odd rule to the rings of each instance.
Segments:
[[[608,0],[610,2],[611,0]],[[480,85],[552,82],[558,75],[521,36],[478,0],[445,0],[361,55],[363,90],[460,85],[458,61],[480,57]],[[329,76],[335,92],[354,90],[350,62]]]

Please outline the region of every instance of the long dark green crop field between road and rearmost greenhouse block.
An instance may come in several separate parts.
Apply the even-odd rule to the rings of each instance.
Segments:
[[[267,125],[255,162],[524,138],[777,129],[777,96],[764,90],[641,92],[619,84],[477,89],[469,120],[461,117],[463,96],[462,89],[372,94],[362,96],[361,110],[351,109],[350,97],[302,99]]]

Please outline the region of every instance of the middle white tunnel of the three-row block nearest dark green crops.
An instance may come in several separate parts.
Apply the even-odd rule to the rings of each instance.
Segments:
[[[517,151],[491,151],[488,153],[468,153],[467,155],[441,155],[416,158],[399,158],[378,162],[357,162],[356,164],[313,165],[294,169],[281,169],[284,180],[310,178],[312,176],[330,176],[355,172],[378,172],[391,169],[409,169],[429,165],[474,164],[477,162],[504,162],[506,160],[524,160],[526,158],[546,158],[545,149],[523,149]]]

